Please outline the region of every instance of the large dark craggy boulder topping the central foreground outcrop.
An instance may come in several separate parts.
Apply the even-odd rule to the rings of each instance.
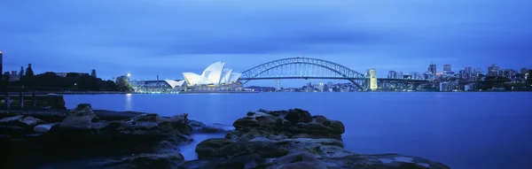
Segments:
[[[341,140],[345,127],[338,120],[324,116],[311,116],[309,111],[294,109],[289,111],[248,112],[247,116],[237,119],[236,128],[226,135],[233,141],[249,141],[255,137],[270,140],[289,138],[332,138]]]

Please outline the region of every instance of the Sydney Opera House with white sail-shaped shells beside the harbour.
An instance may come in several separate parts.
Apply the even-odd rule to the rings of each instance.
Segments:
[[[239,81],[242,73],[233,73],[232,69],[225,68],[225,63],[216,62],[209,65],[201,74],[183,73],[183,81],[165,80],[172,88],[180,87],[207,87],[223,88]]]

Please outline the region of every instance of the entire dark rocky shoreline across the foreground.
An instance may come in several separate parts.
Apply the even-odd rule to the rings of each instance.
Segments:
[[[186,113],[160,117],[97,111],[90,104],[71,111],[2,111],[0,166],[36,168],[100,157],[77,168],[450,168],[422,157],[344,150],[344,132],[340,121],[300,109],[248,112],[232,127],[206,125]],[[185,161],[178,146],[192,142],[193,133],[226,135],[200,142],[198,159]]]

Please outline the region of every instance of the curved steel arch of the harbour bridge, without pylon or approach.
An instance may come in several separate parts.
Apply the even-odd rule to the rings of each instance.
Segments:
[[[304,76],[297,73],[282,73],[279,71],[273,71],[276,68],[294,68],[298,65],[312,65],[320,67],[327,71],[330,71],[331,75],[320,75],[318,77]],[[273,75],[262,76],[264,73],[273,72]],[[242,73],[240,81],[246,83],[247,81],[253,80],[264,80],[264,79],[338,79],[338,80],[348,80],[354,83],[358,88],[362,88],[361,83],[366,80],[364,73],[358,73],[347,66],[340,65],[328,60],[319,59],[319,58],[283,58],[278,60],[273,60],[262,65],[254,66]]]

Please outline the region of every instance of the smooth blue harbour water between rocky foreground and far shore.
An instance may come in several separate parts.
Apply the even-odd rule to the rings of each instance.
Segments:
[[[532,168],[532,93],[260,93],[65,96],[66,106],[189,113],[232,124],[247,111],[301,108],[341,120],[347,150],[426,157],[455,169]],[[194,135],[195,143],[222,135]],[[195,144],[182,148],[195,157]]]

